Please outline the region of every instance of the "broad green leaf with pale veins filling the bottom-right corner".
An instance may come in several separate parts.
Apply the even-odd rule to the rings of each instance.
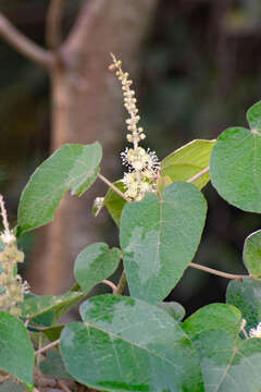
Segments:
[[[260,392],[261,339],[233,339],[224,330],[199,333],[194,340],[206,392]]]

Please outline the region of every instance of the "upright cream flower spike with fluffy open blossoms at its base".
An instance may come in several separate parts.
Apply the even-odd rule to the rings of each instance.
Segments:
[[[128,73],[122,71],[122,62],[112,54],[113,64],[110,70],[116,70],[116,76],[122,83],[124,95],[124,107],[129,118],[126,120],[128,134],[127,142],[133,143],[134,148],[126,148],[121,154],[123,164],[128,167],[128,172],[124,173],[123,183],[125,185],[124,195],[130,200],[141,200],[146,192],[157,192],[157,174],[159,171],[159,160],[154,151],[145,150],[138,143],[145,139],[146,135],[142,127],[138,127],[138,109],[136,106],[135,91],[130,89],[132,81]]]

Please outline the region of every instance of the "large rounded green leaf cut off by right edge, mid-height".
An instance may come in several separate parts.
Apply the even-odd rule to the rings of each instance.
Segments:
[[[213,186],[229,204],[245,211],[261,212],[261,103],[247,113],[250,131],[224,131],[212,150]]]

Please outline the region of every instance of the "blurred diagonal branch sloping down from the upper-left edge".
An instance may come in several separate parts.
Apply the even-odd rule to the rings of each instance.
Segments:
[[[0,12],[0,37],[5,39],[20,53],[36,63],[49,68],[53,64],[53,56],[48,50],[24,36],[9,20]]]

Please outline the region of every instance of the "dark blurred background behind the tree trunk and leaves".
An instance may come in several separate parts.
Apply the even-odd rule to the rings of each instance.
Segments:
[[[77,3],[66,2],[64,34]],[[42,0],[12,0],[11,5],[0,0],[0,10],[42,45],[47,5]],[[160,1],[135,81],[146,143],[160,159],[194,138],[212,139],[228,126],[247,126],[245,113],[261,98],[260,20],[259,0]],[[15,224],[23,186],[48,156],[50,90],[46,72],[2,40],[0,62],[0,192]],[[209,213],[195,261],[244,273],[244,240],[260,229],[260,217],[228,206],[211,184],[203,193]],[[116,234],[111,241],[116,242]],[[34,233],[25,235],[21,246],[27,255],[26,269]],[[169,298],[191,313],[224,301],[227,282],[188,269]]]

